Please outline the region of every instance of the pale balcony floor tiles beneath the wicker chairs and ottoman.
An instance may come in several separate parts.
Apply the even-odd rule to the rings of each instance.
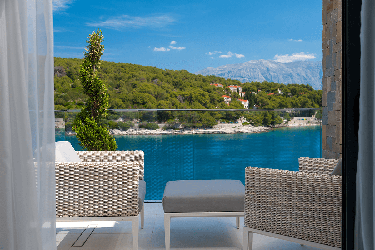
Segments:
[[[83,247],[72,247],[88,225],[97,225]],[[244,218],[171,218],[171,250],[242,250]],[[317,250],[314,247],[254,234],[254,250]],[[133,250],[132,223],[57,222],[57,250]],[[165,249],[161,203],[146,203],[144,229],[139,227],[139,250]]]

